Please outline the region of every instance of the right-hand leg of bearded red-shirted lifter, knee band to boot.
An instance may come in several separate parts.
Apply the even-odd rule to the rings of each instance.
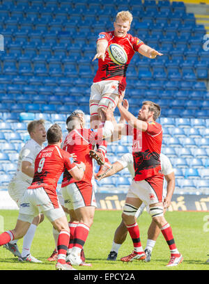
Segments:
[[[169,260],[167,267],[173,267],[180,264],[180,262],[183,261],[183,256],[179,253],[176,247],[176,243],[173,239],[173,232],[171,226],[164,218],[163,212],[164,209],[162,203],[155,203],[150,205],[150,215],[152,216],[153,221],[155,221],[155,223],[157,223],[157,226],[160,228],[162,235],[164,236],[164,239],[169,245],[169,249],[171,252],[171,258]]]

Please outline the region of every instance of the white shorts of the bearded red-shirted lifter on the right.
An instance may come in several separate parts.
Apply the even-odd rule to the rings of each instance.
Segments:
[[[140,198],[146,205],[159,203],[157,194],[146,180],[132,181],[127,191],[127,197]]]

